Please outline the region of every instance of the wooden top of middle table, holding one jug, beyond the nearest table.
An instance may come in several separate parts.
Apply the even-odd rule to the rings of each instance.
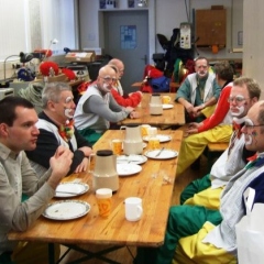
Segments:
[[[150,114],[150,100],[152,94],[143,94],[141,106],[135,110],[140,112],[139,119],[124,119],[120,121],[121,124],[138,123],[138,124],[151,124],[155,127],[163,125],[184,125],[185,124],[185,110],[184,106],[175,102],[175,92],[161,94],[161,96],[169,96],[170,103],[174,106],[172,109],[164,109],[163,114],[153,116]]]

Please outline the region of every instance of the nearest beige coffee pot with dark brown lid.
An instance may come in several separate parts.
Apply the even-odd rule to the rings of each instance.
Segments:
[[[117,172],[117,156],[110,150],[100,150],[96,153],[95,169],[92,172],[94,190],[109,188],[112,191],[119,189],[119,176]]]

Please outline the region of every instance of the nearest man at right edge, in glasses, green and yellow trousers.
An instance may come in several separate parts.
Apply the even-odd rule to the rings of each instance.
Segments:
[[[221,195],[220,211],[173,206],[164,244],[139,249],[134,263],[238,263],[235,224],[246,213],[249,188],[255,190],[253,205],[264,202],[263,125],[264,101],[258,101],[249,110],[242,128],[245,147],[257,152],[257,158],[232,175]]]

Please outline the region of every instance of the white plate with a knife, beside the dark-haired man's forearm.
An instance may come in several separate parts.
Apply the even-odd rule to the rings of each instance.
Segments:
[[[75,197],[89,190],[89,185],[82,183],[61,183],[55,193],[55,197]]]

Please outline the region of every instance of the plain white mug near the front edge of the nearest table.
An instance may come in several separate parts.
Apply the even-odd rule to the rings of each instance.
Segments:
[[[139,221],[143,213],[142,199],[129,197],[124,200],[125,219],[128,221]]]

